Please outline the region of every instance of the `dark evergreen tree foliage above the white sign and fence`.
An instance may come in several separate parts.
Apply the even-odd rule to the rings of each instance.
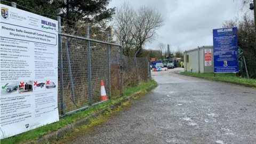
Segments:
[[[98,23],[110,21],[115,14],[115,7],[107,9],[111,0],[5,0],[2,4],[11,5],[11,2],[17,3],[17,8],[28,12],[36,13],[44,17],[70,20],[86,21]],[[44,13],[44,14],[43,14]],[[53,15],[53,16],[51,16]]]

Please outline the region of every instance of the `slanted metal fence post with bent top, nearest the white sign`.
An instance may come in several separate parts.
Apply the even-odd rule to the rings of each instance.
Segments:
[[[74,35],[76,31],[73,31],[71,35]],[[73,83],[73,76],[72,76],[72,70],[71,70],[71,62],[70,62],[70,55],[69,55],[69,42],[71,41],[71,37],[67,39],[67,42],[65,43],[66,46],[66,55],[67,55],[67,62],[68,62],[68,74],[69,74],[69,81],[70,81],[70,89],[71,89],[71,97],[74,103],[76,103],[75,99],[75,90],[74,90],[74,83]]]

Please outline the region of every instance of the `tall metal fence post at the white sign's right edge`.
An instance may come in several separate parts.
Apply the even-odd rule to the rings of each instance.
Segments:
[[[64,85],[63,85],[63,59],[62,59],[62,39],[61,39],[61,17],[58,16],[58,32],[59,32],[59,59],[60,59],[60,86],[61,86],[61,90],[60,90],[60,107],[61,107],[61,114],[64,115],[65,114],[65,109],[64,109]]]

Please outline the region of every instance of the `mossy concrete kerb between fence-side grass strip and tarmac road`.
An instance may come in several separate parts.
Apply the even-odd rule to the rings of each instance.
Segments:
[[[150,90],[154,89],[156,86],[157,85],[150,85],[145,90],[147,92],[149,92]],[[111,110],[116,109],[118,106],[121,106],[123,102],[130,101],[135,97],[139,97],[140,95],[141,95],[140,91],[135,92],[130,97],[124,98],[121,101],[118,101],[118,102],[110,105],[109,108]],[[61,139],[62,137],[64,137],[66,134],[69,134],[69,133],[73,132],[78,127],[81,127],[81,126],[86,125],[86,124],[90,124],[90,121],[89,121],[90,118],[96,118],[96,117],[104,114],[105,111],[108,111],[108,109],[107,108],[102,108],[99,111],[96,111],[95,113],[93,113],[93,114],[91,114],[91,115],[89,115],[85,118],[79,119],[78,121],[76,121],[74,123],[67,124],[66,126],[61,127],[57,131],[47,133],[47,134],[43,135],[41,138],[38,138],[34,141],[25,142],[25,144],[45,143],[45,142],[50,142],[51,143],[51,142],[57,141],[57,140]]]

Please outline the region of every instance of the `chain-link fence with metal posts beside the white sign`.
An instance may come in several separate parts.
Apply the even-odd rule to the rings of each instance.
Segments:
[[[146,82],[150,77],[148,58],[136,59],[137,73],[135,58],[122,55],[121,45],[108,43],[108,32],[105,31],[107,42],[104,42],[89,38],[90,26],[84,30],[87,38],[77,36],[76,30],[73,35],[59,34],[58,102],[61,116],[101,103],[101,80],[111,99],[121,97],[126,86]]]

